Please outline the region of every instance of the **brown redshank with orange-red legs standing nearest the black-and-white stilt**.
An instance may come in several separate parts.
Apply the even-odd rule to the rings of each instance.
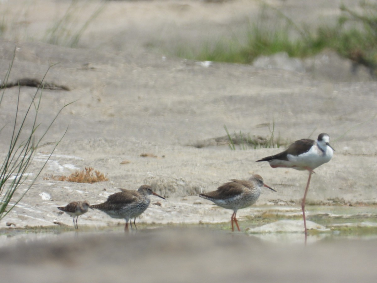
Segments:
[[[230,218],[232,231],[234,232],[234,223],[236,223],[238,231],[241,231],[236,218],[237,211],[253,205],[258,200],[263,186],[276,192],[264,183],[260,175],[254,174],[249,180],[232,179],[230,182],[221,185],[216,191],[199,194],[199,197],[213,201],[222,208],[233,210]]]

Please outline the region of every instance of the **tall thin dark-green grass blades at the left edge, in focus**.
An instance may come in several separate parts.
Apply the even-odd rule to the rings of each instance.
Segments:
[[[15,51],[12,63],[9,66],[8,72],[3,80],[3,84],[0,86],[0,109],[3,107],[9,107],[8,105],[2,105],[2,102],[7,88],[8,78],[12,69],[14,57]],[[42,169],[46,165],[47,161],[51,157],[55,148],[65,135],[64,132],[60,140],[58,140],[55,143],[51,153],[49,154],[49,157],[38,169],[39,171],[31,180],[31,182],[29,182],[28,185],[26,185],[26,189],[23,190],[21,194],[15,196],[15,192],[20,188],[20,186],[25,182],[25,180],[29,176],[28,168],[32,163],[32,158],[35,155],[38,146],[42,145],[45,135],[51,128],[52,124],[55,122],[60,112],[70,104],[69,103],[64,105],[57,112],[56,116],[52,119],[51,123],[48,125],[47,129],[45,129],[44,132],[42,132],[42,134],[36,135],[36,131],[40,125],[38,124],[38,112],[41,108],[43,82],[50,68],[48,68],[46,74],[41,80],[40,87],[37,88],[35,94],[31,97],[31,102],[27,109],[25,109],[25,114],[20,114],[21,112],[23,112],[23,109],[20,109],[21,88],[18,88],[18,100],[17,105],[15,106],[16,108],[14,121],[12,122],[13,130],[9,137],[8,151],[5,154],[3,163],[0,168],[0,219],[4,218],[29,191],[31,186],[34,184],[36,178],[39,176]],[[31,125],[29,125],[30,120],[32,121]],[[6,125],[1,126],[0,133],[4,131],[5,126]],[[2,133],[2,135],[4,135],[4,133]],[[3,140],[5,140],[4,136]]]

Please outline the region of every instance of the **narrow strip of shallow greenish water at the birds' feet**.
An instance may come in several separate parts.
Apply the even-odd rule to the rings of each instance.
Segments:
[[[296,243],[304,240],[303,231],[285,232],[284,225],[272,232],[254,233],[250,229],[276,223],[279,220],[298,220],[302,221],[302,212],[297,207],[284,206],[265,206],[258,207],[263,210],[261,216],[242,217],[239,225],[242,232],[237,234],[245,234],[250,237],[257,237],[264,241],[272,243]],[[325,226],[326,231],[310,230],[308,231],[308,243],[318,240],[337,240],[337,239],[360,239],[367,240],[377,238],[377,207],[376,206],[308,206],[307,220],[313,221],[319,225]],[[245,220],[245,218],[249,218]],[[287,231],[290,224],[287,224]],[[166,227],[184,227],[197,228],[204,227],[214,231],[231,232],[230,221],[222,223],[198,223],[198,224],[150,224],[137,223],[138,229],[130,229],[129,233],[137,233],[144,229],[157,229]],[[123,231],[123,224],[108,227],[92,227],[82,225],[76,231],[71,226],[46,226],[35,228],[5,228],[0,229],[0,247],[17,245],[18,243],[28,243],[37,240],[54,241],[61,236],[74,234],[79,235],[91,233],[106,233]],[[303,230],[303,225],[302,225]]]

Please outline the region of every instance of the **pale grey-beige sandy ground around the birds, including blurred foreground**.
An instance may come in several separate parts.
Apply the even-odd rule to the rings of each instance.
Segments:
[[[25,2],[28,5],[25,6]],[[268,164],[254,162],[282,148],[231,151],[227,145],[213,143],[202,148],[193,146],[224,136],[224,125],[231,132],[267,137],[270,134],[268,125],[273,121],[275,135],[280,134],[288,143],[298,138],[316,138],[321,132],[327,132],[331,137],[336,152],[329,163],[316,169],[308,202],[345,205],[376,202],[374,117],[377,83],[365,69],[360,67],[352,72],[352,62],[329,51],[300,61],[299,72],[268,68],[269,65],[213,63],[205,66],[161,51],[167,50],[166,46],[195,45],[244,30],[248,21],[260,12],[260,2],[256,1],[110,1],[83,34],[80,48],[32,42],[32,39],[43,37],[46,27],[64,13],[69,3],[15,0],[0,4],[9,12],[9,18],[18,15],[22,17],[18,20],[19,25],[27,23],[25,33],[13,27],[13,31],[17,30],[16,38],[8,32],[5,35],[9,40],[0,42],[0,78],[5,76],[16,50],[10,82],[20,78],[40,80],[49,64],[58,63],[48,71],[46,82],[69,89],[43,91],[38,113],[40,131],[64,104],[74,102],[63,109],[44,142],[59,140],[67,129],[66,135],[35,185],[0,221],[2,228],[6,227],[6,222],[14,223],[18,228],[72,225],[72,218],[59,214],[56,206],[84,199],[98,203],[116,192],[116,188],[137,189],[144,183],[151,184],[167,200],[153,198],[152,203],[158,201],[161,205],[151,205],[139,222],[225,222],[230,218],[230,211],[216,208],[197,195],[216,189],[228,179],[248,178],[254,173],[262,175],[265,183],[278,192],[263,191],[256,206],[239,211],[240,220],[245,215],[263,214],[266,209],[279,206],[300,213],[307,172],[272,169]],[[338,2],[309,4],[288,0],[266,3],[297,22],[310,25],[318,20],[334,21],[339,15]],[[89,17],[97,2],[85,5],[89,6],[81,13],[83,20],[85,16]],[[33,87],[21,87],[21,109],[25,109],[34,93]],[[6,89],[3,97],[0,111],[5,125],[1,132],[2,152],[7,150],[17,94],[18,88],[13,87]],[[51,145],[40,148],[30,173],[38,172],[51,149]],[[156,157],[141,157],[143,153]],[[123,161],[129,162],[122,164]],[[78,184],[52,179],[52,175],[68,175],[86,166],[105,173],[109,181]],[[16,196],[27,188],[27,183]],[[79,225],[97,228],[118,222],[97,211],[79,218]],[[5,268],[2,263],[2,274],[6,272],[9,282],[17,281],[25,274],[29,281],[36,281],[41,276],[40,271],[50,268],[61,276],[69,269],[77,276],[76,281],[90,272],[86,278],[98,282],[107,281],[106,276],[117,280],[125,274],[135,279],[138,272],[149,268],[150,272],[146,272],[140,281],[192,281],[200,280],[206,273],[214,280],[222,278],[224,282],[230,278],[298,281],[314,274],[317,278],[313,281],[318,282],[354,281],[353,278],[371,281],[375,276],[374,268],[371,268],[375,263],[374,257],[371,258],[374,254],[371,247],[375,247],[373,241],[321,243],[306,250],[299,245],[292,250],[254,238],[195,229],[158,230],[137,235],[140,234],[141,237],[126,236],[126,245],[122,244],[124,236],[106,233],[98,238],[85,233],[69,239],[60,236],[61,243],[49,238],[45,254],[41,252],[38,256],[55,259],[38,261],[38,268],[26,268],[31,257],[23,257],[24,251],[33,254],[38,250],[41,245],[38,241],[35,245],[4,250],[1,258],[10,258],[11,267]],[[83,243],[87,243],[86,248],[75,248]],[[169,248],[162,248],[167,243],[171,243]],[[119,254],[112,252],[120,246]],[[145,248],[139,254],[141,246]],[[192,246],[196,249],[192,250]],[[71,248],[61,255],[61,249],[66,247]],[[99,256],[103,251],[110,258],[105,265]],[[131,264],[123,269],[120,254],[128,252],[131,256],[126,258]],[[322,261],[325,252],[328,256]],[[349,269],[350,255],[355,252],[359,254],[359,261]],[[158,259],[159,255],[163,260]],[[182,269],[177,262],[172,262],[177,256],[186,260]],[[301,266],[302,262],[308,264]],[[336,264],[330,265],[334,262]],[[216,264],[220,268],[215,272],[211,268]],[[26,268],[25,274],[16,272],[19,265]],[[316,268],[311,268],[313,265]],[[93,266],[101,268],[93,271]],[[83,270],[85,272],[81,272]],[[128,271],[134,273],[130,275]],[[321,272],[324,277],[318,277]],[[176,280],[177,273],[179,280]],[[49,274],[45,273],[40,281],[51,281]],[[99,274],[103,279],[99,279]]]

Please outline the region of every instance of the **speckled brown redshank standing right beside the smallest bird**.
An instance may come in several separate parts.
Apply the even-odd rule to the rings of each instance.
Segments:
[[[132,229],[132,218],[138,217],[148,208],[150,203],[149,195],[161,197],[161,195],[153,192],[149,185],[142,185],[137,191],[127,189],[119,190],[121,190],[121,192],[109,195],[104,203],[91,205],[90,208],[103,211],[112,218],[124,218],[126,220],[124,230],[128,230],[129,220]],[[161,198],[166,199],[164,197]],[[136,228],[135,221],[134,224]]]

